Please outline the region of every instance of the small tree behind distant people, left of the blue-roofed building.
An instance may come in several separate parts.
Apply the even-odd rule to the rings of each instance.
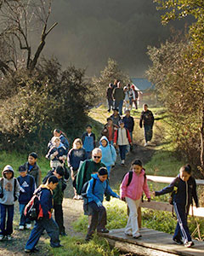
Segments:
[[[94,89],[97,90],[98,102],[105,98],[105,90],[115,79],[122,81],[123,84],[129,82],[129,78],[122,72],[117,62],[109,58],[107,66],[100,72],[99,78],[92,79]]]

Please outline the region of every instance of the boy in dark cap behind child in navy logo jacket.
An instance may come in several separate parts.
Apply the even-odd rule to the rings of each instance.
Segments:
[[[35,152],[31,152],[28,155],[28,161],[23,167],[27,170],[27,173],[34,177],[37,187],[41,184],[41,170],[40,167],[37,166],[37,154]]]

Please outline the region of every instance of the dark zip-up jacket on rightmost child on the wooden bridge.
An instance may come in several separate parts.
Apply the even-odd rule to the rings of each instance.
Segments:
[[[178,184],[176,184],[178,183]],[[167,193],[173,192],[174,187],[178,187],[176,193],[173,195],[173,201],[181,205],[182,207],[189,207],[192,204],[192,198],[195,201],[196,207],[198,207],[198,197],[196,193],[196,183],[195,178],[191,177],[187,182],[184,182],[180,176],[175,177],[173,182],[170,183],[167,187],[156,191],[156,195],[164,195]]]

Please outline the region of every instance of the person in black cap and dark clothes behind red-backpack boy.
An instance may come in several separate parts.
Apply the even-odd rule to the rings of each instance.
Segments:
[[[56,223],[59,225],[59,235],[66,236],[65,234],[65,226],[64,226],[64,218],[63,218],[63,210],[62,210],[62,201],[64,198],[64,190],[66,188],[65,181],[63,179],[64,169],[62,166],[57,166],[56,169],[48,172],[47,176],[44,177],[42,183],[47,183],[48,177],[55,176],[59,179],[59,183],[53,191],[54,198],[54,219]]]

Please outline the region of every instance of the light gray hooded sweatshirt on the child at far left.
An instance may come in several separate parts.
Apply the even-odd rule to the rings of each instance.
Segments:
[[[5,175],[5,172],[7,171],[12,172],[12,177],[10,179],[8,179]],[[3,192],[3,197],[0,198],[0,203],[7,206],[14,205],[14,201],[16,201],[20,195],[20,184],[14,177],[14,169],[11,166],[5,166],[2,172],[2,176],[3,177],[0,180],[0,193],[2,194]],[[14,179],[16,179],[15,189]]]

